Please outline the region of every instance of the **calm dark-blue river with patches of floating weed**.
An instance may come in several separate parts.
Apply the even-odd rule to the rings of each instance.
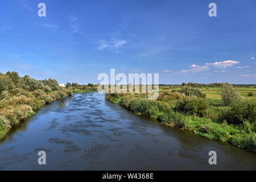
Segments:
[[[38,164],[38,151],[47,164]],[[217,152],[217,165],[208,152]],[[256,154],[138,117],[82,93],[42,107],[0,141],[2,170],[256,169]]]

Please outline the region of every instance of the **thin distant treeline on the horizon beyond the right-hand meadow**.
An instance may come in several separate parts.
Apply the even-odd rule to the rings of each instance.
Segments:
[[[199,84],[199,83],[193,83],[188,82],[182,83],[182,84],[159,84],[159,86],[173,86],[173,87],[180,87],[180,86],[191,86],[191,87],[221,87],[223,83],[212,83],[212,84]],[[256,84],[231,84],[235,87],[255,87]]]

